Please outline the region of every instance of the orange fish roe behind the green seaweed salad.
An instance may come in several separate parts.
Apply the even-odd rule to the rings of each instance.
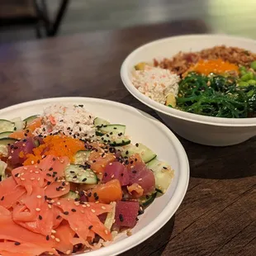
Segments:
[[[223,59],[200,59],[197,64],[192,66],[188,71],[195,71],[208,75],[209,73],[223,74],[230,71],[239,72],[239,67],[235,64],[230,64]]]

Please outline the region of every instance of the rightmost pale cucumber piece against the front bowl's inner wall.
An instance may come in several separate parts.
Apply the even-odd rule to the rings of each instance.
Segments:
[[[173,179],[172,168],[167,163],[160,162],[158,159],[151,160],[147,167],[154,172],[155,187],[163,193],[166,192]]]

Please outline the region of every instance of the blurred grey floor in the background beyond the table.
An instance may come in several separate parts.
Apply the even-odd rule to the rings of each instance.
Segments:
[[[51,15],[59,0],[46,0]],[[197,18],[212,32],[256,39],[256,0],[71,0],[59,36]],[[36,38],[31,27],[0,28],[0,43]]]

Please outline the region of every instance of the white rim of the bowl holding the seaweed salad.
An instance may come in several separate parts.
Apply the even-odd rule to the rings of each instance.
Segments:
[[[132,94],[136,99],[140,102],[144,103],[146,106],[153,108],[155,111],[159,111],[167,116],[173,116],[178,119],[182,119],[184,121],[191,121],[195,123],[201,123],[205,125],[211,126],[235,126],[235,127],[253,127],[256,126],[256,117],[247,117],[247,118],[225,118],[225,117],[215,117],[215,116],[201,116],[198,114],[193,114],[185,111],[180,111],[178,109],[167,107],[159,102],[155,102],[149,97],[145,96],[142,92],[137,90],[129,78],[129,70],[128,65],[130,63],[130,59],[132,59],[138,52],[141,50],[149,49],[151,46],[158,45],[159,43],[165,42],[174,42],[176,40],[189,40],[191,38],[203,39],[203,38],[221,38],[239,40],[244,42],[250,42],[255,44],[256,51],[256,40],[239,37],[239,36],[228,36],[223,34],[191,34],[184,36],[169,36],[164,37],[159,40],[153,40],[145,45],[140,45],[138,48],[130,52],[129,55],[126,56],[126,59],[121,64],[121,81],[124,83],[126,89]]]

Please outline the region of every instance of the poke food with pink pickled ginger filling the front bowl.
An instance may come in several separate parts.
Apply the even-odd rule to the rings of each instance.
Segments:
[[[73,254],[133,228],[173,170],[83,105],[0,120],[0,254]],[[128,232],[130,235],[130,233]]]

